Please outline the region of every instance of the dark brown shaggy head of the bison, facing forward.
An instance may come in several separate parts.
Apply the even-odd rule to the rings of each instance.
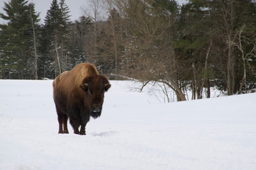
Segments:
[[[92,118],[97,118],[100,116],[104,101],[104,93],[110,89],[110,86],[110,81],[108,81],[107,77],[102,75],[85,77],[85,79],[82,80],[80,87],[83,91],[85,91],[85,93],[87,93],[92,102]]]

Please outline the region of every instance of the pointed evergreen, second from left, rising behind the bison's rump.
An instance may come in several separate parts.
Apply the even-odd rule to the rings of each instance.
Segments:
[[[43,60],[48,63],[48,69],[44,70],[47,77],[54,78],[66,69],[69,18],[65,0],[60,3],[53,0],[46,14],[41,48],[45,56]]]

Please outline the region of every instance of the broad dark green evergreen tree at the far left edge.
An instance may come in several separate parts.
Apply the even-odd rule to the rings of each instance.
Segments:
[[[34,4],[25,0],[4,3],[0,17],[8,21],[0,25],[0,72],[3,79],[31,79],[34,74],[33,26],[38,28]],[[33,18],[31,20],[31,18]]]

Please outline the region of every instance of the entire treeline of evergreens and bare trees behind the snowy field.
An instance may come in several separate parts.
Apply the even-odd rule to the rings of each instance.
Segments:
[[[54,79],[80,62],[112,79],[160,82],[186,100],[218,86],[228,95],[256,85],[253,0],[92,0],[95,16],[71,22],[65,0],[53,0],[44,24],[35,4],[7,1],[0,17],[0,78]],[[108,18],[97,19],[97,6]]]

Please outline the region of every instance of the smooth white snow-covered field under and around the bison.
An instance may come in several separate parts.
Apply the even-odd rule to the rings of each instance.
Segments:
[[[111,84],[81,136],[58,134],[52,81],[0,80],[0,169],[256,169],[256,94],[160,104]]]

